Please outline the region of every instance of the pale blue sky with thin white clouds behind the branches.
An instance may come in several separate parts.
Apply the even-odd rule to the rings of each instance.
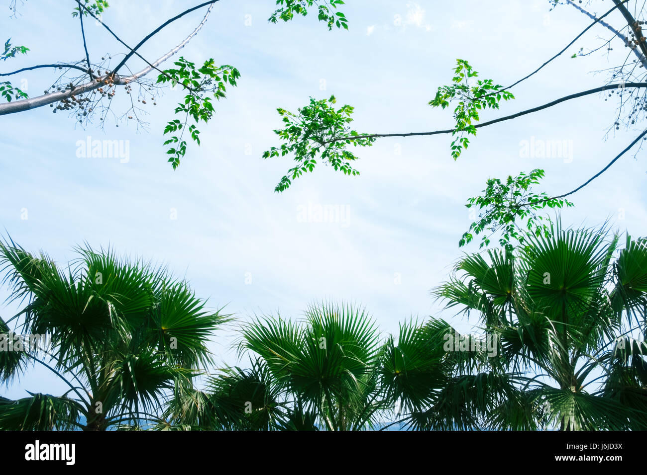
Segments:
[[[19,4],[20,4],[20,0]],[[0,17],[3,38],[26,45],[26,56],[0,65],[8,71],[34,64],[84,57],[78,19],[60,1],[25,1],[20,16]],[[111,0],[102,17],[129,45],[195,1]],[[450,83],[455,59],[470,61],[483,79],[509,85],[532,72],[571,41],[591,20],[564,5],[549,11],[546,0],[444,2],[347,0],[342,11],[349,30],[329,32],[316,16],[289,23],[267,22],[274,1],[221,0],[206,25],[177,56],[195,63],[214,58],[241,72],[238,87],[201,123],[201,145],[188,145],[175,171],[166,162],[162,131],[181,98],[166,90],[148,102],[148,130],[134,121],[109,118],[82,125],[42,107],[0,118],[0,225],[29,251],[45,251],[65,263],[73,248],[113,247],[120,255],[153,260],[185,277],[210,308],[223,308],[239,321],[280,312],[298,319],[316,301],[365,306],[385,332],[398,323],[442,317],[463,332],[475,321],[443,310],[430,290],[448,278],[465,251],[458,240],[473,220],[465,207],[488,178],[542,168],[538,188],[549,195],[574,189],[597,173],[640,131],[607,134],[617,103],[599,95],[480,129],[457,160],[450,136],[382,138],[358,149],[359,176],[321,165],[283,193],[274,186],[292,167],[288,156],[263,160],[280,145],[278,107],[296,111],[309,97],[334,94],[338,105],[355,107],[359,132],[417,132],[452,127],[450,111],[428,105],[437,87]],[[586,3],[585,3],[586,4]],[[609,7],[601,1],[589,8]],[[140,52],[155,59],[174,47],[201,21],[204,10],[168,26]],[[609,17],[622,24],[620,14]],[[86,22],[92,58],[126,49],[100,25]],[[611,37],[596,26],[531,79],[514,88],[514,101],[483,120],[512,114],[606,83],[604,70],[626,58],[613,50],[572,59]],[[633,59],[633,58],[632,58]],[[144,63],[129,62],[132,70]],[[165,63],[170,67],[170,61]],[[13,77],[30,96],[56,79],[37,70]],[[124,94],[115,101],[124,104]],[[118,109],[118,107],[115,107]],[[116,127],[118,125],[118,127]],[[89,139],[88,139],[89,137]],[[127,156],[87,157],[87,140],[117,140]],[[524,153],[540,141],[564,144],[563,156]],[[82,146],[82,145],[81,145]],[[127,148],[126,148],[127,147]],[[597,226],[605,220],[633,236],[647,235],[645,167],[642,153],[624,156],[603,176],[571,196],[562,212],[565,226]],[[318,222],[307,210],[329,207],[338,217]],[[0,289],[0,299],[8,295]],[[0,305],[0,316],[17,304]],[[212,349],[222,364],[236,363],[230,348],[236,325],[217,332]],[[243,361],[244,363],[245,361]],[[65,385],[34,368],[0,395],[25,397],[25,390],[61,394]]]

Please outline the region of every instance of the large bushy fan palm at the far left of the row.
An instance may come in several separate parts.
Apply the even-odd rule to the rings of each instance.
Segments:
[[[166,396],[212,363],[206,343],[227,316],[207,311],[186,282],[141,260],[118,259],[111,249],[75,250],[78,259],[63,270],[43,253],[0,242],[3,283],[12,289],[10,299],[25,302],[12,319],[0,319],[5,343],[12,333],[52,338],[49,347],[0,352],[0,379],[39,364],[69,387],[60,396],[0,399],[0,429],[107,430],[157,422]]]

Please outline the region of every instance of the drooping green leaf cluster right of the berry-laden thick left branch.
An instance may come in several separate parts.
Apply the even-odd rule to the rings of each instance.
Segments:
[[[214,59],[204,61],[199,69],[195,67],[195,63],[187,61],[183,56],[174,64],[177,68],[164,70],[157,77],[157,83],[170,83],[173,86],[179,84],[187,91],[184,101],[175,108],[175,114],[182,114],[184,119],[171,120],[164,128],[164,134],[181,131],[179,135],[173,135],[164,142],[164,145],[170,145],[166,153],[171,155],[168,161],[173,169],[176,169],[186,154],[186,140],[182,140],[184,131],[188,130],[193,142],[200,145],[197,123],[201,120],[206,123],[212,118],[214,105],[211,97],[215,100],[224,99],[226,85],[236,86],[240,72],[230,65],[216,66]],[[195,123],[187,127],[189,118]]]

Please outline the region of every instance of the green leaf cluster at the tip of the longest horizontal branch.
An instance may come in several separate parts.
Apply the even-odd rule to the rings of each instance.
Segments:
[[[271,147],[265,151],[263,158],[293,153],[297,165],[288,170],[274,191],[284,191],[291,185],[292,180],[305,172],[313,171],[318,156],[325,164],[344,174],[359,174],[351,166],[351,162],[357,157],[346,149],[346,145],[367,147],[375,142],[375,137],[362,136],[348,127],[353,121],[353,107],[344,105],[335,109],[335,103],[334,96],[327,100],[310,98],[310,104],[298,109],[297,114],[277,109],[283,117],[285,127],[275,130],[274,133],[284,143],[280,147]]]

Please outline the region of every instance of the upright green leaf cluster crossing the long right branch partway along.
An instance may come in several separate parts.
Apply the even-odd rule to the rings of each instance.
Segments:
[[[494,84],[492,79],[478,79],[471,85],[470,78],[476,78],[478,73],[465,59],[456,59],[454,74],[454,84],[439,87],[429,105],[445,109],[450,103],[458,102],[454,109],[456,125],[452,132],[452,135],[457,136],[452,142],[452,156],[456,160],[470,143],[466,135],[476,136],[474,122],[479,121],[478,111],[499,109],[501,100],[514,99],[514,96],[511,92],[503,90],[503,86]]]

